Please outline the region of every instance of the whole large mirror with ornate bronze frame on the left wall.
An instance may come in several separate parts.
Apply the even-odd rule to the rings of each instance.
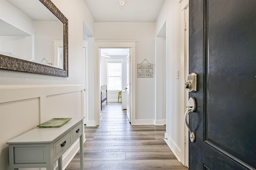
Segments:
[[[44,8],[42,10],[50,12],[59,23],[55,23],[57,22],[55,20],[32,19],[30,23],[33,25],[31,26],[33,30],[29,28],[26,21],[36,17],[41,7],[28,7],[28,4],[38,4],[38,2]],[[28,10],[28,13],[20,14],[24,9],[18,9],[18,6],[24,6],[24,4],[26,5],[24,9]],[[0,8],[2,27],[0,29],[0,69],[68,77],[68,19],[51,0],[26,0],[26,2],[1,0]],[[32,11],[35,13],[31,14]],[[24,17],[20,18],[23,15]],[[30,16],[32,17],[30,18]],[[46,18],[46,14],[42,14],[41,18]],[[53,31],[49,29],[48,25],[43,25],[45,23],[54,25],[54,29],[59,27],[61,30]],[[22,28],[19,25],[22,25]],[[38,33],[36,28],[43,33]],[[30,31],[24,31],[24,29]],[[10,33],[11,30],[16,31]],[[37,40],[38,37],[40,41]],[[48,41],[43,42],[43,39],[48,39]],[[48,46],[50,49],[47,48]],[[22,55],[22,57],[18,55]],[[50,58],[50,55],[55,57]]]

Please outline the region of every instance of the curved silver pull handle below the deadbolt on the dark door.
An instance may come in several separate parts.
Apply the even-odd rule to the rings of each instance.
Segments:
[[[195,133],[191,131],[191,129],[190,129],[189,125],[188,125],[188,114],[192,113],[195,110],[195,108],[196,108],[196,100],[195,100],[195,98],[189,98],[188,105],[189,105],[188,108],[190,108],[190,109],[188,109],[185,112],[184,121],[185,121],[186,126],[188,127],[190,141],[194,142],[195,141]]]

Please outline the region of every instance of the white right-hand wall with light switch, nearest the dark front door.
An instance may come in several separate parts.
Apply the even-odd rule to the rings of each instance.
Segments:
[[[180,9],[178,0],[166,0],[156,21],[156,35],[166,22],[166,134],[167,144],[178,160],[181,157],[183,121],[180,108],[180,90],[183,80],[176,79],[176,71],[182,69],[180,60]]]

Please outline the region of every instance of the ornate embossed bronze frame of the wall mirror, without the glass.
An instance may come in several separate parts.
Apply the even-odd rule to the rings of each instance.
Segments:
[[[30,72],[37,74],[48,74],[53,76],[68,77],[68,19],[58,10],[50,0],[39,0],[63,23],[64,33],[64,68],[56,68],[44,64],[34,63],[6,55],[0,55],[0,69]]]

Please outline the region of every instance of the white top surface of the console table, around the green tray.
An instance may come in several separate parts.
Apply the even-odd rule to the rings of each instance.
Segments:
[[[22,144],[22,143],[51,143],[56,138],[60,137],[65,132],[76,125],[84,117],[72,117],[68,123],[64,124],[62,127],[58,128],[35,128],[28,131],[10,141],[6,144]]]

